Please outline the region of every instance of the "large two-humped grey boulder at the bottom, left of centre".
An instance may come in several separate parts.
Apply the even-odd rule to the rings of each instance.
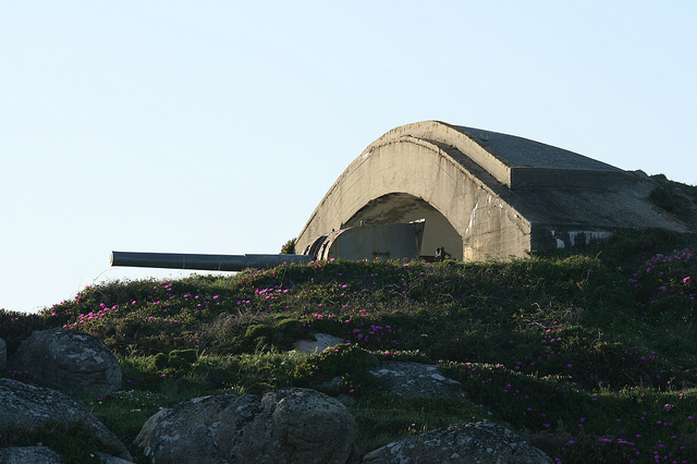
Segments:
[[[154,463],[355,462],[356,425],[339,401],[309,389],[204,396],[150,417],[136,443]]]

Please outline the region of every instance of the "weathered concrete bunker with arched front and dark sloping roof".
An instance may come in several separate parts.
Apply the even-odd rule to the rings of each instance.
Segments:
[[[346,227],[426,219],[420,254],[466,260],[527,256],[621,228],[684,225],[653,208],[640,175],[522,137],[425,121],[396,127],[356,158],[296,241]]]

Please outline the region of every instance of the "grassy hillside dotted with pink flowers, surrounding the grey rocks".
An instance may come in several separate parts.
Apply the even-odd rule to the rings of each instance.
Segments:
[[[625,232],[601,248],[508,262],[319,261],[221,278],[111,282],[38,315],[0,312],[9,351],[34,329],[91,333],[124,390],[78,398],[130,447],[160,407],[221,392],[338,389],[367,452],[451,423],[508,424],[564,463],[695,462],[695,240]],[[290,352],[315,332],[346,343]],[[467,400],[382,393],[380,359],[439,364]],[[40,383],[32,373],[4,376]],[[11,437],[9,442],[50,437]],[[56,447],[88,460],[66,437]],[[82,454],[81,454],[82,453]],[[78,460],[78,457],[75,457]]]

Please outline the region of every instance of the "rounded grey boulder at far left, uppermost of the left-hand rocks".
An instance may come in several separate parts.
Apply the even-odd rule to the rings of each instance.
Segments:
[[[20,345],[14,363],[63,391],[100,396],[121,389],[121,366],[107,345],[70,329],[34,331]]]

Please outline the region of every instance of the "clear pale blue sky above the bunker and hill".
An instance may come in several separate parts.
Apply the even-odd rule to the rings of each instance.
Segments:
[[[0,308],[279,253],[426,120],[695,185],[697,2],[1,2]]]

